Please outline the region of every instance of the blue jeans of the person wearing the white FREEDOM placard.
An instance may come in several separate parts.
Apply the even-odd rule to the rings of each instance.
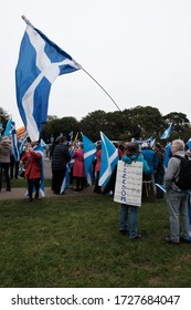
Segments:
[[[120,205],[120,215],[119,215],[119,230],[129,231],[129,238],[136,238],[137,232],[137,216],[138,216],[137,206],[130,205]],[[129,224],[128,224],[128,213],[129,213]]]

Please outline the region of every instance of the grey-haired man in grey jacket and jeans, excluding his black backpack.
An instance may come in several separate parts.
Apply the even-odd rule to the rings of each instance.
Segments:
[[[171,153],[165,176],[167,190],[167,205],[170,219],[170,236],[166,238],[168,244],[179,245],[180,242],[189,244],[189,192],[190,185],[183,184],[183,176],[187,178],[187,170],[183,166],[184,159],[184,142],[181,140],[172,141]],[[188,162],[187,162],[188,164]],[[181,176],[181,178],[180,178]],[[181,180],[181,184],[179,183]],[[188,185],[188,186],[187,186]]]

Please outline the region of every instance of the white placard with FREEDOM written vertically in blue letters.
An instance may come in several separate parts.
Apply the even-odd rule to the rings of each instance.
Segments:
[[[141,193],[142,163],[132,162],[131,164],[125,164],[123,161],[119,161],[117,164],[114,202],[140,207]]]

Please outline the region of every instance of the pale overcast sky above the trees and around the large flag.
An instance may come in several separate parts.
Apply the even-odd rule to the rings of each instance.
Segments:
[[[35,28],[76,60],[120,110],[157,107],[191,121],[190,0],[7,0],[0,10],[0,106],[22,126],[14,71],[25,31]],[[117,110],[82,70],[53,83],[49,115],[78,121],[95,110]]]

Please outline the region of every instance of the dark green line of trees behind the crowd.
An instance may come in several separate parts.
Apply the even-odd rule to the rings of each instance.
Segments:
[[[10,115],[0,107],[0,123],[6,128]],[[49,115],[47,122],[42,125],[41,137],[45,143],[51,138],[55,140],[61,133],[70,138],[83,132],[89,140],[96,142],[100,140],[102,131],[112,141],[145,140],[153,137],[160,141],[160,136],[167,127],[173,124],[170,140],[182,138],[187,142],[191,137],[191,124],[183,113],[171,112],[162,115],[160,111],[152,106],[135,106],[124,111],[108,112],[97,110],[88,113],[81,121],[75,117],[61,117]],[[2,132],[3,134],[3,132]]]

